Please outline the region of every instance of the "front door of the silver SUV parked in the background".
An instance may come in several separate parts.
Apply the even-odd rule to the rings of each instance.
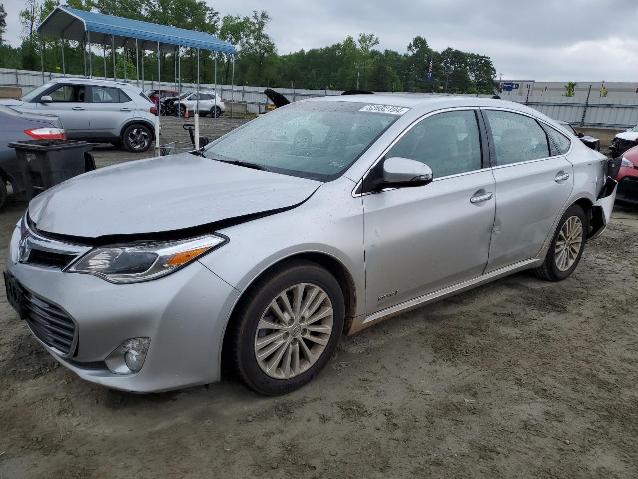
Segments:
[[[42,96],[45,95],[53,98],[53,102],[36,102],[38,113],[48,113],[59,117],[64,125],[66,136],[70,139],[89,140],[91,138],[87,86],[57,84]]]

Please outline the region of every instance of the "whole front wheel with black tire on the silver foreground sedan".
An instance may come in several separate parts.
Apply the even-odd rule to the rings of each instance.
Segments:
[[[284,297],[293,315],[286,312]],[[296,303],[298,297],[301,301]],[[304,301],[309,303],[304,305]],[[295,316],[297,304],[300,308]],[[272,305],[279,308],[281,316],[276,316]],[[304,309],[315,311],[306,318]],[[318,316],[320,319],[311,321]],[[268,323],[262,322],[262,317]],[[343,293],[327,270],[310,261],[286,261],[276,266],[251,286],[235,312],[230,356],[237,376],[263,395],[300,388],[330,360],[343,331],[344,317]],[[270,324],[276,328],[263,327]]]

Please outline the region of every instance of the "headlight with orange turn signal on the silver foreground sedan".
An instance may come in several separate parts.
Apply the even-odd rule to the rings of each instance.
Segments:
[[[96,248],[64,271],[94,275],[117,284],[138,283],[169,275],[225,242],[225,238],[208,234],[172,243]]]

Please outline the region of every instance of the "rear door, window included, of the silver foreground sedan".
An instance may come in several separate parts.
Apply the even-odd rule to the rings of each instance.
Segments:
[[[553,151],[533,116],[484,110],[496,156],[496,221],[486,273],[533,259],[574,186],[572,163]]]

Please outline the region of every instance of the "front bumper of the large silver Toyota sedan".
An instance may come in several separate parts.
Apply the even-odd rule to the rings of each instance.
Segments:
[[[20,229],[7,271],[20,285],[63,308],[77,325],[68,357],[49,353],[82,379],[130,392],[159,392],[219,380],[221,337],[239,292],[199,262],[165,278],[115,285],[91,275],[18,262]],[[107,356],[131,338],[151,338],[142,369],[115,374]],[[36,337],[37,338],[37,337]]]

